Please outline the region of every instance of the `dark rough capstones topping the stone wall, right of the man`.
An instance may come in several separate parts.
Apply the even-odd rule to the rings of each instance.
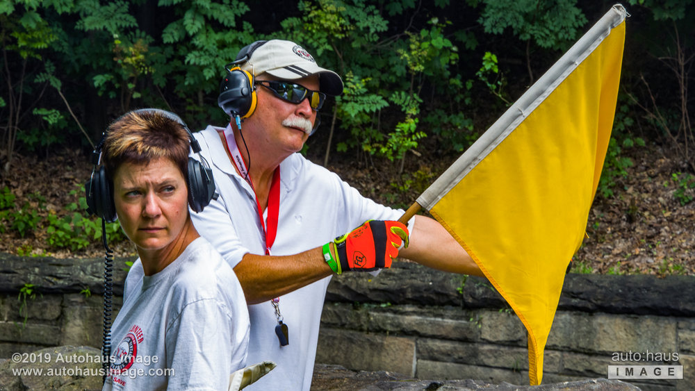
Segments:
[[[675,300],[674,297],[678,297]],[[326,301],[462,308],[505,308],[485,278],[395,262],[378,276],[332,278]],[[695,316],[695,276],[567,274],[558,310],[587,313]]]

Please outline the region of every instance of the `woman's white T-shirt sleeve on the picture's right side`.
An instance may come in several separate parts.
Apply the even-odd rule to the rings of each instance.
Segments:
[[[231,368],[231,315],[224,303],[189,303],[166,331],[168,388],[227,390]]]

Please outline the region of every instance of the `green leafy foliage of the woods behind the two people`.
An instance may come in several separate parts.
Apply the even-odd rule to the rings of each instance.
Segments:
[[[461,152],[479,136],[476,122],[489,121],[484,112],[491,108],[480,92],[491,92],[496,97],[493,104],[508,105],[509,90],[520,90],[521,61],[515,56],[527,56],[531,73],[539,68],[531,65],[531,59],[556,58],[557,51],[578,38],[587,19],[596,19],[598,7],[581,4],[580,8],[578,3],[302,0],[277,3],[270,13],[259,3],[240,0],[0,1],[0,42],[7,55],[0,59],[0,78],[9,82],[0,83],[2,156],[11,159],[10,144],[15,140],[24,151],[48,151],[82,138],[71,126],[71,111],[76,120],[93,125],[106,124],[131,108],[170,107],[192,128],[221,124],[227,118],[215,98],[222,66],[246,44],[269,38],[295,40],[322,67],[343,77],[345,94],[329,99],[324,109],[335,110],[338,151],[402,163],[407,151],[417,152],[423,138],[436,135],[438,151]],[[663,22],[689,26],[692,3],[630,0],[635,9],[651,13],[650,27],[663,27]],[[589,12],[594,15],[584,15]],[[447,19],[454,13],[456,24]],[[633,19],[649,19],[640,17]],[[642,22],[633,23],[644,27]],[[498,35],[513,35],[518,42]],[[682,36],[687,54],[692,40]],[[525,50],[519,42],[525,42]],[[658,53],[673,56],[673,45],[667,43],[658,40]],[[663,68],[650,65],[635,72],[629,68],[633,63],[644,64],[627,57],[623,61],[626,72],[621,85],[626,90],[635,90],[635,74],[643,70],[647,78],[659,80],[672,70],[662,72]],[[673,85],[663,84],[663,89],[673,90]],[[669,95],[660,92],[661,97]],[[92,113],[85,104],[95,94],[104,113]],[[616,113],[599,183],[603,197],[612,196],[632,165],[629,149],[644,146],[633,130],[639,119],[624,101]],[[685,123],[678,110],[671,111],[661,110],[664,114],[657,118],[661,120],[647,119],[646,125],[676,129]],[[676,185],[683,192],[674,197],[686,201],[687,184]],[[406,181],[394,191],[410,189]],[[399,196],[394,194],[393,199]],[[74,231],[89,232],[86,237],[92,239],[100,235],[97,224],[77,210],[52,217],[41,217],[42,210],[38,211],[32,213],[29,206],[0,208],[0,219],[7,223],[0,230],[26,235],[44,224],[52,227],[51,241],[67,248],[84,245],[75,242]],[[120,235],[117,226],[111,227],[111,234]]]

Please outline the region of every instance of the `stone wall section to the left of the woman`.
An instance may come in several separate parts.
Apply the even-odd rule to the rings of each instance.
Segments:
[[[126,260],[133,259],[114,261],[112,319],[122,303]],[[25,284],[33,284],[33,298],[20,294]],[[0,253],[0,358],[60,345],[101,347],[103,293],[103,259]]]

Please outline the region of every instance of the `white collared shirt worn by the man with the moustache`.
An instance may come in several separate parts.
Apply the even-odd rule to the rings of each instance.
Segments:
[[[234,267],[246,253],[265,254],[265,236],[254,191],[229,161],[218,135],[222,130],[231,132],[229,126],[226,130],[208,126],[195,133],[202,156],[213,169],[219,197],[202,213],[192,212],[191,218],[197,231]],[[195,154],[192,156],[197,158]],[[280,164],[277,236],[270,253],[274,256],[301,253],[352,231],[368,219],[395,220],[402,214],[402,210],[386,208],[362,197],[336,174],[293,153]],[[267,218],[265,210],[263,219]],[[289,344],[284,347],[280,347],[275,335],[277,318],[270,301],[249,306],[249,362],[277,363],[270,374],[250,385],[250,390],[309,390],[329,281],[330,276],[279,298],[289,334]]]

